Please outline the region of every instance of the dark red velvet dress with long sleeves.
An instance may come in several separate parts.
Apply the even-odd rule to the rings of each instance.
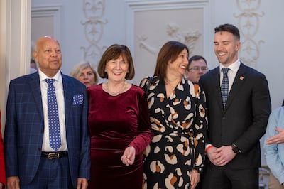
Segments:
[[[102,90],[102,84],[88,87],[89,131],[91,134],[91,181],[89,188],[142,188],[143,149],[151,142],[148,104],[136,85],[117,96]],[[133,165],[125,166],[121,156],[127,146],[136,149]]]

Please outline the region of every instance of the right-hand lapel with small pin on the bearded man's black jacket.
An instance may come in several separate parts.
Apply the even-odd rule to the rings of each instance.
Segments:
[[[226,102],[226,109],[230,106],[231,102],[234,100],[234,97],[237,96],[239,90],[241,90],[241,86],[244,84],[246,80],[246,66],[241,63],[238,72],[236,72],[236,77],[234,79],[233,85],[231,86],[231,90],[229,92],[228,101]]]

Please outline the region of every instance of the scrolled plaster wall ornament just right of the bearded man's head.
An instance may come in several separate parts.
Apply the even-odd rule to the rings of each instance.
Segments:
[[[244,37],[241,42],[240,59],[256,68],[260,44],[264,42],[263,40],[255,41],[253,39],[258,33],[259,18],[264,15],[263,12],[256,13],[261,6],[261,0],[236,0],[236,4],[241,13],[235,17],[239,18],[239,30]]]

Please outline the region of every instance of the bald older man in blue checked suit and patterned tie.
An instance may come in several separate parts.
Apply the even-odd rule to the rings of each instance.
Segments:
[[[60,72],[61,50],[54,38],[39,38],[33,56],[38,72],[11,80],[9,85],[4,134],[7,187],[87,188],[90,140],[86,87]],[[48,80],[53,80],[57,124],[50,118]],[[57,134],[51,125],[58,126]],[[52,134],[58,136],[56,147]]]

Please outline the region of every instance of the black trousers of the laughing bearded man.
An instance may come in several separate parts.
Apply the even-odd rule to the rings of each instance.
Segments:
[[[258,168],[232,169],[207,164],[202,189],[258,189]]]

